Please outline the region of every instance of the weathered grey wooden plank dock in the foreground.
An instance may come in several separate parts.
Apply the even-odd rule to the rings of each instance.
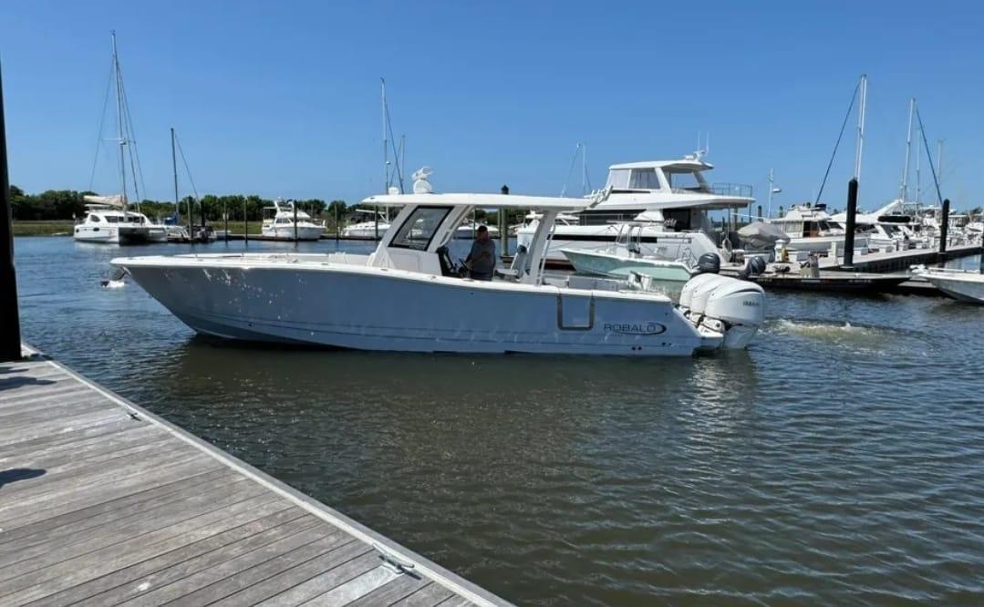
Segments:
[[[506,605],[33,353],[0,364],[0,604]]]

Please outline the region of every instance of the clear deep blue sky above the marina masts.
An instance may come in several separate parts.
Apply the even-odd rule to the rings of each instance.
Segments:
[[[115,29],[152,198],[171,196],[171,126],[203,194],[354,202],[380,191],[384,76],[407,168],[434,167],[439,191],[508,183],[557,194],[578,142],[600,185],[608,164],[692,152],[700,131],[710,133],[711,180],[752,184],[764,203],[774,167],[775,204],[788,205],[815,195],[867,73],[862,206],[897,193],[912,95],[932,152],[946,140],[944,195],[976,206],[980,6],[4,2],[11,180],[29,191],[89,187]],[[843,204],[853,147],[849,129],[831,206]],[[932,199],[926,169],[924,158]],[[94,187],[115,184],[103,157]]]

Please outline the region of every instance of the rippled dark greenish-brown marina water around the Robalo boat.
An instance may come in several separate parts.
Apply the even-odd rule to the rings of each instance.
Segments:
[[[769,293],[686,360],[295,351],[101,288],[119,249],[16,251],[33,345],[515,602],[984,602],[984,306]]]

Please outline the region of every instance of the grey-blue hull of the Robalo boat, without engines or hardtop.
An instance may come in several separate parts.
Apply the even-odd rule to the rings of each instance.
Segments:
[[[690,356],[721,345],[668,298],[319,264],[114,260],[186,325],[231,339],[413,352]]]

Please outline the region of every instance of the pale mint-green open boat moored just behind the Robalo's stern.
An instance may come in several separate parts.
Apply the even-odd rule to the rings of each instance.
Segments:
[[[682,260],[646,256],[642,234],[646,223],[633,221],[619,225],[614,244],[597,250],[561,249],[577,273],[626,278],[630,273],[646,275],[650,284],[671,296],[679,296],[695,269]]]

